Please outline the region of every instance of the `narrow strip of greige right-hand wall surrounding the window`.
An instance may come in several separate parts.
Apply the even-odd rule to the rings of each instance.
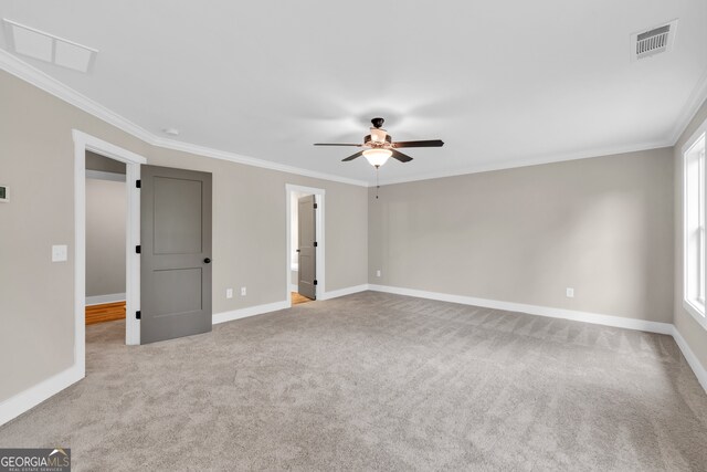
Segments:
[[[707,102],[703,103],[675,145],[675,327],[690,350],[707,369],[707,331],[683,307],[683,155],[682,147],[707,119]]]

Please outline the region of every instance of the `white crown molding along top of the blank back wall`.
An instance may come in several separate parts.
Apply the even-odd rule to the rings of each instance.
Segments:
[[[653,143],[634,144],[630,146],[613,146],[613,147],[605,147],[605,148],[599,148],[599,149],[590,149],[581,153],[564,153],[564,154],[556,154],[550,156],[536,156],[527,159],[505,160],[497,164],[496,162],[482,164],[478,166],[465,167],[463,169],[456,169],[456,170],[440,171],[440,172],[425,174],[425,175],[411,176],[411,177],[381,179],[380,185],[389,186],[393,183],[405,183],[405,182],[414,182],[420,180],[440,179],[444,177],[465,176],[468,174],[481,174],[481,172],[490,172],[494,170],[515,169],[518,167],[540,166],[542,164],[556,164],[556,162],[563,162],[567,160],[579,160],[579,159],[588,159],[591,157],[613,156],[616,154],[637,153],[641,150],[659,149],[664,147],[672,147],[674,143],[672,140],[665,139],[659,141],[653,141]],[[376,187],[376,185],[370,183],[369,187]]]

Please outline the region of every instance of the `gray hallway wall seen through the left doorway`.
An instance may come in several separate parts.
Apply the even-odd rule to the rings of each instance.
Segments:
[[[125,182],[86,179],[86,296],[125,293],[126,198]]]

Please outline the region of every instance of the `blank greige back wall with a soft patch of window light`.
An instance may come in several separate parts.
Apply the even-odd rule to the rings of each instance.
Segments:
[[[671,323],[673,167],[665,148],[370,189],[369,282]]]

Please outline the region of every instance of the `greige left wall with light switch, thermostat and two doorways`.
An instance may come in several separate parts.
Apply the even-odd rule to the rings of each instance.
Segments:
[[[73,365],[74,147],[80,129],[148,159],[213,172],[214,313],[285,300],[285,183],[326,189],[326,289],[367,283],[367,189],[154,148],[0,72],[0,401]],[[51,245],[68,244],[52,263]],[[226,287],[247,286],[247,296]]]

